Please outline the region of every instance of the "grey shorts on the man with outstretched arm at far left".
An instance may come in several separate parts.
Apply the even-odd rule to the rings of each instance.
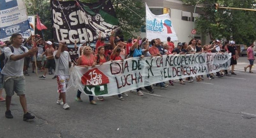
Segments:
[[[25,94],[25,77],[6,77],[4,76],[4,89],[7,96],[13,96],[14,92],[17,95]]]

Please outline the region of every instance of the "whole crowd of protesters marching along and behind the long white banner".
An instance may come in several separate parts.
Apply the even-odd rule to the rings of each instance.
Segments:
[[[148,40],[147,38],[138,37],[137,39],[128,39],[124,42],[122,37],[115,37],[114,32],[110,37],[110,43],[105,43],[104,38],[99,38],[96,43],[96,49],[88,46],[86,41],[81,40],[79,46],[76,41],[74,48],[78,51],[78,59],[75,65],[79,67],[95,67],[96,65],[102,65],[107,61],[125,60],[132,57],[154,57],[163,56],[165,54],[193,54],[193,53],[231,53],[231,74],[228,70],[221,70],[216,72],[216,75],[207,74],[208,80],[215,77],[236,75],[234,72],[234,66],[237,64],[238,52],[235,46],[235,42],[225,42],[221,44],[219,40],[210,42],[209,45],[202,45],[200,39],[192,39],[189,43],[178,43],[177,46],[171,41],[170,37],[167,37],[167,43],[163,43],[159,38]],[[163,40],[163,41],[166,41]],[[252,73],[252,65],[254,61],[253,44],[248,48],[248,60],[250,65],[244,68],[250,68]],[[67,52],[67,45],[65,41],[60,41],[58,45],[54,45],[53,40],[44,41],[39,36],[32,36],[27,40],[23,40],[20,34],[13,34],[10,41],[0,42],[1,55],[4,54],[4,66],[1,62],[1,74],[0,74],[0,101],[6,100],[6,118],[13,118],[10,111],[11,97],[14,92],[20,96],[22,108],[24,110],[23,120],[32,119],[32,116],[26,107],[25,97],[25,79],[23,75],[29,76],[28,68],[32,66],[32,73],[36,73],[36,65],[39,71],[43,72],[40,79],[46,79],[47,72],[49,75],[53,75],[53,79],[57,79],[57,86],[59,92],[59,98],[57,104],[63,105],[64,109],[69,109],[69,105],[66,102],[66,86],[69,81],[69,68],[71,67],[72,60],[69,52]],[[0,57],[1,60],[1,57]],[[30,65],[31,63],[31,65]],[[2,67],[3,66],[3,67]],[[54,73],[53,73],[54,71]],[[196,81],[202,81],[204,76],[196,76]],[[192,77],[184,78],[188,83],[194,81]],[[174,85],[174,80],[166,82],[160,82],[154,85],[145,86],[144,89],[148,93],[154,93],[155,86],[159,86],[161,89],[167,88],[169,85]],[[179,83],[185,85],[183,79],[179,79]],[[6,99],[2,97],[3,88],[6,92]],[[143,96],[141,92],[143,89],[136,89],[136,94]],[[130,91],[132,93],[133,91]],[[128,96],[127,93],[118,94],[119,100],[124,100],[123,96]],[[81,102],[81,91],[77,90],[76,101]],[[89,96],[90,104],[96,105],[93,96]],[[104,97],[98,96],[98,101],[104,101]]]

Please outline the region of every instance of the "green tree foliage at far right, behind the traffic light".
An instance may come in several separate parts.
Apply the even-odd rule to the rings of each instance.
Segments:
[[[195,5],[198,0],[183,0],[185,4]],[[253,11],[218,9],[214,3],[222,7],[255,9],[255,0],[201,0],[204,14],[196,21],[197,30],[206,33],[211,40],[233,39],[237,44],[252,43],[256,38],[256,18]]]

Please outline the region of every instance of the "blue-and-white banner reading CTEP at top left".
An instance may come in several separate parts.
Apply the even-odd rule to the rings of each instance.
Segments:
[[[23,0],[0,0],[0,38],[21,33],[30,28]]]

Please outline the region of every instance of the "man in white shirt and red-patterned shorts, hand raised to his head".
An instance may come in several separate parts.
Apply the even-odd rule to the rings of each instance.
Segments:
[[[69,67],[71,66],[71,58],[69,53],[65,51],[66,48],[66,42],[63,40],[60,41],[59,48],[53,53],[53,56],[56,62],[55,76],[57,76],[59,93],[57,104],[63,105],[64,109],[69,109],[69,105],[66,103],[65,93],[66,86],[68,85],[69,81]]]

